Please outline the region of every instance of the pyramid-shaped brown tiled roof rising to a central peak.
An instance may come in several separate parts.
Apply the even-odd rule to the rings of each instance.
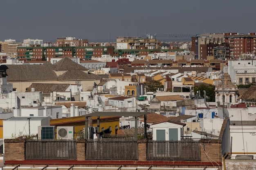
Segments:
[[[73,62],[68,57],[64,57],[60,61],[56,62],[54,64],[54,70],[55,71],[66,71],[66,70],[88,70],[84,66],[81,66],[80,64],[77,64],[76,62]]]

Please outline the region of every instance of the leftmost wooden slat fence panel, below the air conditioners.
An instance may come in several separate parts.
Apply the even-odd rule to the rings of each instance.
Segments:
[[[76,141],[28,140],[25,159],[76,159]]]

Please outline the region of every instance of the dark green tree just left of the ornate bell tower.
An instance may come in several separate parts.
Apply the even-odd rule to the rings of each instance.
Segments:
[[[202,97],[204,97],[204,91],[208,96],[207,102],[215,102],[215,86],[209,84],[201,84],[200,86],[195,86],[194,92],[200,91]]]

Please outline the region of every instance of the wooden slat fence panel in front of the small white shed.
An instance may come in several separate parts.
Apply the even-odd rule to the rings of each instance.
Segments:
[[[147,160],[201,160],[199,141],[148,141]]]

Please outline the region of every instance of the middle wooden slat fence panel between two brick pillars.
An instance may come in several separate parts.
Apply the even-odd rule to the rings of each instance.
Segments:
[[[89,140],[86,142],[85,159],[137,160],[138,144],[135,140]]]

